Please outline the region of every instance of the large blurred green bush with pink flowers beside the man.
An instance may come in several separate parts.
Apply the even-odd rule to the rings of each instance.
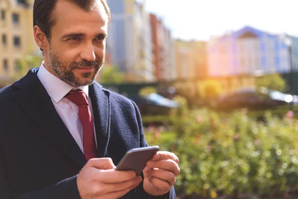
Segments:
[[[186,198],[279,199],[298,189],[298,121],[265,117],[180,109],[171,115],[177,136],[149,144],[179,157],[175,189]]]

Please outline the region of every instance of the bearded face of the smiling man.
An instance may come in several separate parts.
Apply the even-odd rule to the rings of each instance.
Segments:
[[[92,84],[104,62],[108,16],[97,0],[86,12],[67,0],[58,0],[54,9],[47,70],[77,88]]]

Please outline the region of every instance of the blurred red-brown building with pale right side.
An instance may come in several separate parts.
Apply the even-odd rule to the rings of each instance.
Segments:
[[[174,40],[162,20],[150,14],[152,54],[157,81],[176,79]]]

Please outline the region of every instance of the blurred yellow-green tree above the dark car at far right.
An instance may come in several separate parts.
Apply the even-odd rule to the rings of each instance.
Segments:
[[[285,92],[287,89],[286,81],[279,74],[260,77],[257,79],[256,84],[257,88],[265,87],[269,90],[276,90],[280,92]]]

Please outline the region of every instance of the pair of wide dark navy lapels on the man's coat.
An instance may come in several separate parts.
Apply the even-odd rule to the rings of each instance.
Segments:
[[[57,147],[83,167],[86,163],[85,156],[57,113],[47,91],[37,78],[37,71],[36,68],[31,69],[25,77],[12,85],[19,89],[13,93],[13,98]],[[89,95],[93,107],[98,157],[104,157],[107,154],[110,135],[109,92],[104,92],[101,85],[93,83],[89,86]]]

